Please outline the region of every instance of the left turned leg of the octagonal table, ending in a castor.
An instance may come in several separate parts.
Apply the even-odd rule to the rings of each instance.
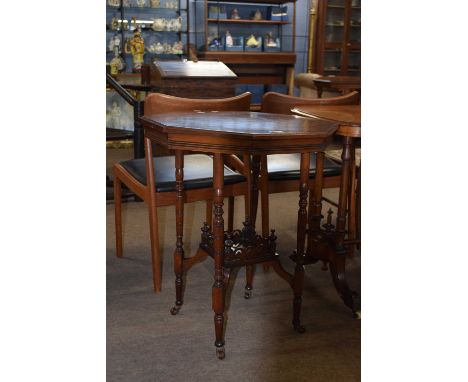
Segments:
[[[184,154],[181,150],[175,152],[176,176],[176,249],[174,251],[174,273],[176,301],[171,314],[179,312],[183,304],[183,273],[184,273]]]

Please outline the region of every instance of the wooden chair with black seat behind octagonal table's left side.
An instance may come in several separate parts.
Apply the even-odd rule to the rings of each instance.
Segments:
[[[152,93],[145,99],[144,115],[184,111],[248,111],[250,93],[224,99],[189,99],[166,94]],[[152,158],[152,160],[151,160]],[[229,158],[228,158],[229,159]],[[131,191],[149,206],[151,259],[153,268],[153,287],[161,291],[161,262],[157,207],[175,205],[176,174],[175,161],[184,163],[184,203],[200,200],[207,201],[207,221],[211,222],[213,160],[205,154],[161,156],[153,158],[151,145],[145,142],[145,158],[132,159],[114,165],[114,202],[116,254],[122,257],[122,202],[121,193],[124,183]],[[244,174],[246,175],[246,174]],[[231,197],[245,195],[246,178],[242,173],[225,166],[225,195]],[[232,210],[229,208],[229,210]],[[229,217],[232,220],[232,217]]]

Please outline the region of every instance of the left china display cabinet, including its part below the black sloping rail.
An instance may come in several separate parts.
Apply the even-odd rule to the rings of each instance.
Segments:
[[[150,89],[142,84],[143,64],[186,55],[187,5],[188,0],[106,0],[106,62],[110,74],[137,99]],[[132,106],[109,87],[106,125],[112,131],[134,129]]]

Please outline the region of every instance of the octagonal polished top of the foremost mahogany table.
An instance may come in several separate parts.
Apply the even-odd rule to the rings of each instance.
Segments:
[[[224,154],[322,151],[338,128],[328,121],[255,112],[160,114],[140,121],[146,136],[170,149]]]

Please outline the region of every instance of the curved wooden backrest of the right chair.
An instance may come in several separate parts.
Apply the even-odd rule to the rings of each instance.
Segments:
[[[344,96],[331,98],[302,98],[285,94],[268,92],[263,95],[262,112],[275,114],[292,114],[295,106],[304,105],[359,105],[361,95],[353,91]]]

